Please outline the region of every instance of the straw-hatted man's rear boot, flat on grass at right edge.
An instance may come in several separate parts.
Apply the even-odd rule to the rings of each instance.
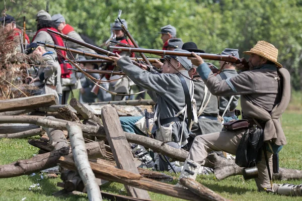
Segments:
[[[273,191],[277,194],[287,196],[302,196],[302,184],[293,185],[289,183],[273,184]]]

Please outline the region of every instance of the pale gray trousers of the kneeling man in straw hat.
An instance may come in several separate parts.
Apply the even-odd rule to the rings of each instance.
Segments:
[[[235,155],[240,140],[245,132],[245,129],[238,131],[221,131],[217,133],[210,133],[207,135],[196,136],[190,149],[189,159],[204,165],[204,159],[211,151],[224,151]],[[273,154],[267,151],[270,172],[272,174],[272,158]],[[262,153],[262,160],[257,164],[258,178],[255,179],[258,190],[263,188],[271,188],[268,170],[265,163],[264,154]]]

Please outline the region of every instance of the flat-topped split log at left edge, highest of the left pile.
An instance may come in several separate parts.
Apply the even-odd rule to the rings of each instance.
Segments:
[[[28,110],[39,107],[55,105],[54,94],[34,95],[8,100],[0,100],[0,112]]]

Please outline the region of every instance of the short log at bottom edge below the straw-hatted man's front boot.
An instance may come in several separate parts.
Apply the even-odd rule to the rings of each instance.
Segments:
[[[226,201],[226,200],[228,200],[193,179],[181,178],[179,181],[183,186],[187,187],[193,193],[199,195],[202,198],[202,200],[206,200],[206,201],[213,201],[213,200]]]

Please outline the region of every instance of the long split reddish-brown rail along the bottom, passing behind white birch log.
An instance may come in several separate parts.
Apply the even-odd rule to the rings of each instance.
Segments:
[[[75,170],[74,162],[70,157],[61,157],[59,164],[67,169]],[[177,187],[172,184],[155,181],[152,179],[144,178],[139,174],[134,174],[125,170],[114,168],[106,164],[97,164],[90,162],[91,168],[97,178],[105,179],[108,181],[115,181],[133,187],[138,187],[148,191],[161,193],[177,198],[188,199],[188,200],[200,200],[198,195],[195,195],[188,189]]]

